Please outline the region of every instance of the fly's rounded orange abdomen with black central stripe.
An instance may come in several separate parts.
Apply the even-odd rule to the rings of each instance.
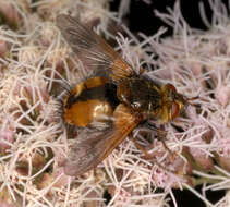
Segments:
[[[116,86],[106,77],[92,77],[76,84],[64,98],[63,121],[85,127],[108,120],[117,105]]]

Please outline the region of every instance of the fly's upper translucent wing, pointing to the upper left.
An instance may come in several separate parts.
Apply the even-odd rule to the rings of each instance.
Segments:
[[[73,52],[92,72],[105,72],[113,81],[132,76],[134,71],[100,36],[70,15],[58,15],[57,26]]]

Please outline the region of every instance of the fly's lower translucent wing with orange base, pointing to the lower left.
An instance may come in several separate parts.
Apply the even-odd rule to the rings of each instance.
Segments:
[[[138,120],[123,105],[114,111],[112,127],[108,131],[88,131],[77,137],[64,172],[78,176],[100,163],[138,124]]]

